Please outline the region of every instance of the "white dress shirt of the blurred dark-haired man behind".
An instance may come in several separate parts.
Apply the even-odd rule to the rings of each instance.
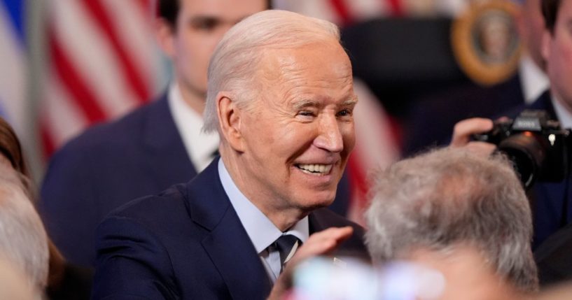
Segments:
[[[176,82],[169,86],[168,101],[176,129],[198,173],[206,168],[214,158],[213,153],[218,150],[218,134],[202,132],[202,115],[188,106]]]

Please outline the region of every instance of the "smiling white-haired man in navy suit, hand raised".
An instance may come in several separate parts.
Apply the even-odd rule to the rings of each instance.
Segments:
[[[289,261],[365,255],[363,229],[324,209],[356,102],[334,24],[279,10],[239,22],[209,64],[204,129],[221,158],[106,217],[93,298],[265,299],[273,283],[272,297],[284,291]]]

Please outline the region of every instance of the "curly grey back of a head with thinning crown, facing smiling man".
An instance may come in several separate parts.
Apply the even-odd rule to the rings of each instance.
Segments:
[[[377,173],[373,184],[366,213],[373,259],[468,244],[519,290],[538,288],[529,203],[505,157],[433,150]]]

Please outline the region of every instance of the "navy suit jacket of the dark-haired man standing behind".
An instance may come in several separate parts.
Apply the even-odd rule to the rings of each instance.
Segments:
[[[67,143],[50,161],[39,209],[48,233],[74,264],[95,262],[95,227],[111,210],[197,175],[167,95]],[[345,214],[346,176],[330,209]]]

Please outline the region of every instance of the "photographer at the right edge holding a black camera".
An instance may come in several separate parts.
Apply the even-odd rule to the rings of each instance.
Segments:
[[[572,0],[541,2],[545,18],[542,55],[550,79],[550,89],[526,108],[545,110],[558,120],[562,128],[572,127]],[[515,110],[518,115],[520,108]],[[490,131],[493,122],[487,119],[468,119],[455,125],[451,145],[465,146],[478,152],[492,152],[495,145],[470,141],[472,134]],[[539,268],[541,285],[572,278],[572,262],[561,259],[562,253],[572,250],[572,189],[571,177],[556,183],[538,182],[529,191],[533,211],[533,249]],[[568,251],[567,251],[568,250]]]

